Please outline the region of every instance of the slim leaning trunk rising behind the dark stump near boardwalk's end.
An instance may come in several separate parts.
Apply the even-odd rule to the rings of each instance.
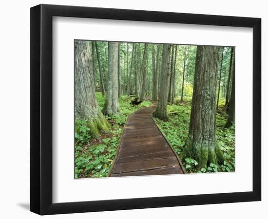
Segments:
[[[146,59],[147,59],[148,44],[144,45],[144,53],[142,57],[141,70],[140,70],[140,80],[136,96],[136,101],[144,101],[145,98],[145,85],[146,85]]]

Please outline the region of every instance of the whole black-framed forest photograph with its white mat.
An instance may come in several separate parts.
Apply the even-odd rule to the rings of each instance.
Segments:
[[[261,201],[261,18],[30,10],[30,210]]]

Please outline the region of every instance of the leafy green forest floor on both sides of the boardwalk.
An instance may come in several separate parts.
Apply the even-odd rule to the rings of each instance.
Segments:
[[[100,109],[103,108],[105,96],[96,92]],[[97,140],[92,138],[84,121],[78,120],[75,125],[75,178],[106,177],[117,153],[121,134],[125,122],[130,114],[144,107],[151,106],[150,101],[144,101],[133,106],[134,97],[121,96],[119,98],[120,113],[106,117],[111,124],[110,133],[101,133]],[[174,151],[180,155],[188,136],[191,99],[185,98],[183,104],[168,105],[169,121],[163,122],[154,118],[156,124],[165,135]],[[197,162],[186,158],[183,163],[188,173],[234,171],[234,128],[224,128],[227,113],[223,110],[224,100],[219,101],[219,110],[216,115],[216,135],[220,148],[224,152],[226,162],[220,166],[211,164],[207,169],[196,171]]]

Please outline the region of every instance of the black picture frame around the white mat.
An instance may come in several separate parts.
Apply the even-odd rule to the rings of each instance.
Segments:
[[[249,192],[52,203],[52,18],[253,28],[253,188]],[[261,18],[40,4],[30,9],[30,211],[40,215],[261,201]]]

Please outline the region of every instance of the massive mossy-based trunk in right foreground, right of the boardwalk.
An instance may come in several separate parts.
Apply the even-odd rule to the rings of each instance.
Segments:
[[[182,159],[194,158],[198,168],[223,163],[216,138],[216,70],[219,47],[197,46],[191,119]]]

